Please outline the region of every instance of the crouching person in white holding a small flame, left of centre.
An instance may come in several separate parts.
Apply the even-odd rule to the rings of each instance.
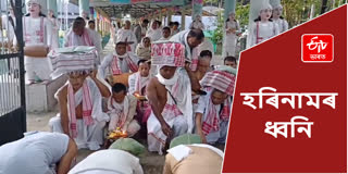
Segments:
[[[109,130],[117,127],[126,132],[128,137],[134,136],[140,125],[134,120],[137,99],[133,95],[127,95],[125,85],[116,83],[112,86],[112,97],[108,100],[108,113],[110,115]]]

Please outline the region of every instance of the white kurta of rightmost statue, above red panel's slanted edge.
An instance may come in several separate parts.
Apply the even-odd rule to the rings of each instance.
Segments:
[[[258,45],[279,34],[278,26],[273,22],[256,22],[251,27],[251,46]]]

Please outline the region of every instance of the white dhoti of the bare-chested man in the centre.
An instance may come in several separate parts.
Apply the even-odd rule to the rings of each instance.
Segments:
[[[184,115],[175,116],[172,120],[165,120],[165,122],[173,129],[173,137],[186,134],[188,130],[187,119]],[[148,120],[149,151],[158,151],[160,154],[162,154],[162,149],[165,146],[166,138],[167,137],[162,132],[162,127],[159,120],[152,112]]]

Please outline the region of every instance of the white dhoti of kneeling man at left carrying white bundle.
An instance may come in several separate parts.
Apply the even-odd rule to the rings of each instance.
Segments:
[[[103,129],[105,122],[95,122],[92,125],[86,126],[82,119],[77,120],[77,137],[74,138],[78,149],[88,148],[90,150],[98,150],[103,144]],[[61,116],[58,114],[49,121],[49,126],[52,132],[62,133]]]

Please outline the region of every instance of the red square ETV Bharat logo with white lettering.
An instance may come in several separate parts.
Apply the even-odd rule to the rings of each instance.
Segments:
[[[302,62],[333,62],[334,36],[330,34],[302,35]]]

